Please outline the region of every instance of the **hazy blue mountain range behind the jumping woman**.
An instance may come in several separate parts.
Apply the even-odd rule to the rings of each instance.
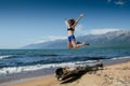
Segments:
[[[87,34],[77,37],[79,42],[88,42],[88,47],[130,47],[130,30],[110,31],[104,34]],[[29,44],[22,48],[26,49],[55,49],[67,48],[66,40],[48,41],[38,44]]]

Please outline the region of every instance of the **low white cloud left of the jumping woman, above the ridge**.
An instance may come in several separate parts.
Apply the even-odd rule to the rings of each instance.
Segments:
[[[49,37],[43,37],[43,38],[37,40],[34,44],[43,43],[43,42],[48,42],[48,41],[64,40],[64,39],[66,39],[66,37],[49,35]]]

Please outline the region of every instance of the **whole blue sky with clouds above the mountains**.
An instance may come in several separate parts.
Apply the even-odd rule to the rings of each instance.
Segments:
[[[66,39],[80,13],[76,37],[130,30],[130,0],[0,0],[0,48]]]

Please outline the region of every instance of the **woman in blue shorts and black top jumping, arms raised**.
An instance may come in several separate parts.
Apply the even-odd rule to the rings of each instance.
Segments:
[[[78,22],[81,19],[81,17],[83,17],[83,14],[80,14],[77,20],[75,18],[72,18],[69,20],[65,19],[65,24],[66,24],[66,27],[67,27],[67,33],[68,33],[67,46],[68,46],[69,49],[73,48],[73,47],[74,48],[79,48],[81,46],[89,45],[84,42],[83,43],[76,42],[76,38],[74,35],[75,27],[78,24]]]

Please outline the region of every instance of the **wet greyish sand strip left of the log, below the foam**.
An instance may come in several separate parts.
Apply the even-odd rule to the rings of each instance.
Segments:
[[[41,69],[36,71],[27,71],[22,73],[14,73],[9,75],[2,75],[0,76],[0,86],[1,85],[8,85],[10,83],[18,83],[23,81],[29,81],[35,80],[39,77],[48,77],[53,75],[55,69]]]

